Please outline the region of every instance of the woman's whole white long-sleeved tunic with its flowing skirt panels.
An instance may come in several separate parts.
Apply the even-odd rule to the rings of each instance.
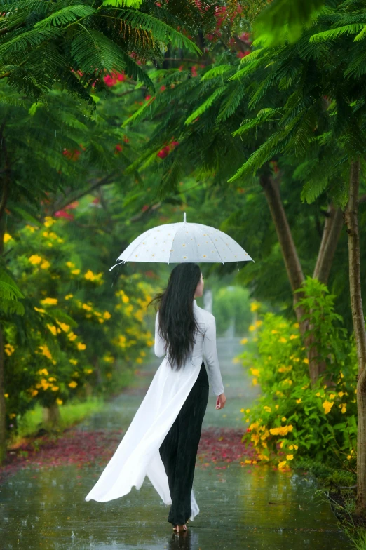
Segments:
[[[194,315],[202,335],[195,335],[196,344],[191,358],[179,370],[172,370],[167,358],[163,358],[126,434],[97,483],[86,496],[86,501],[93,499],[107,502],[123,497],[133,486],[140,489],[147,476],[163,502],[172,504],[168,476],[159,448],[197,380],[203,357],[215,395],[224,393],[216,349],[215,317],[199,307],[196,300]],[[162,357],[165,350],[166,342],[158,332],[157,312],[154,351],[156,356]],[[192,490],[191,520],[198,511]]]

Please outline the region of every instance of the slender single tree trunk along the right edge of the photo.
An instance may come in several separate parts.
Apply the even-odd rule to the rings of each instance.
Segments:
[[[358,232],[359,185],[360,161],[353,161],[351,163],[348,203],[344,218],[348,233],[349,288],[358,358],[357,500],[355,515],[366,517],[366,330],[361,297],[360,236]]]

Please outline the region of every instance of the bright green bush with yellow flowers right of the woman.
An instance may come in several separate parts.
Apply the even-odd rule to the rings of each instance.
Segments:
[[[246,412],[243,420],[250,422],[243,441],[252,441],[258,460],[280,469],[303,457],[342,462],[353,469],[357,435],[354,337],[349,340],[344,329],[337,327],[334,296],[327,295],[323,284],[309,278],[303,290],[302,304],[309,304],[307,315],[312,321],[317,319],[312,330],[318,334],[319,356],[327,359],[324,376],[332,373],[334,386],[327,387],[322,376],[311,387],[298,323],[266,313],[252,326],[255,338],[248,343],[248,351],[239,356],[253,376],[252,383],[262,389],[255,406],[241,410]]]

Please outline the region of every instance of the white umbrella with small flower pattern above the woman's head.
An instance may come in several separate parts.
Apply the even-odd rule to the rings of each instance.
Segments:
[[[209,225],[183,222],[148,229],[118,256],[120,262],[248,262],[244,248],[226,233]],[[252,260],[254,262],[254,260]],[[116,267],[112,266],[111,269]],[[109,269],[109,271],[111,271]]]

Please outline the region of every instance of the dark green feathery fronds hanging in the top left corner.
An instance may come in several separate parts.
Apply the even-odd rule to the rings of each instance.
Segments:
[[[177,28],[204,26],[206,18],[196,6],[179,9],[179,2],[159,9],[140,0],[7,0],[1,5],[0,78],[34,100],[61,83],[92,105],[93,87],[104,88],[106,72],[124,70],[153,88],[131,55],[156,61],[168,43],[197,53],[196,44]]]

